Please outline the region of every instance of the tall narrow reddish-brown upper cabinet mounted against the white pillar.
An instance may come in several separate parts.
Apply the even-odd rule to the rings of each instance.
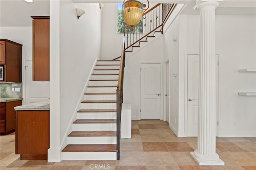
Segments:
[[[33,80],[50,81],[50,17],[33,18]]]

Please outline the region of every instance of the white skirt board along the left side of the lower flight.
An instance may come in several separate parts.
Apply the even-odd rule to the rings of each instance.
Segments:
[[[80,96],[80,100],[78,101],[77,105],[76,105],[76,110],[74,110],[74,113],[72,115],[72,119],[70,119],[70,122],[68,124],[68,128],[66,130],[66,133],[65,133],[65,137],[64,139],[62,140],[61,144],[60,144],[60,160],[63,160],[62,158],[62,152],[61,150],[64,149],[64,147],[66,147],[66,145],[68,145],[68,134],[72,132],[72,129],[73,129],[73,122],[76,120],[77,118],[77,111],[81,109],[81,102],[84,100],[84,93],[86,93],[86,87],[88,86],[89,84],[89,80],[91,79],[91,76],[92,76],[92,73],[93,73],[93,70],[95,68],[95,65],[98,61],[98,58],[95,59],[94,61],[94,64],[92,66],[92,69],[90,71],[90,74],[86,80],[86,83],[85,83],[85,86],[84,86],[84,89],[83,89],[83,92],[81,93],[81,96]]]

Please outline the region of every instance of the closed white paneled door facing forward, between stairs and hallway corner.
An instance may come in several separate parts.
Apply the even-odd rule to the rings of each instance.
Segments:
[[[160,119],[161,64],[141,64],[140,119]]]

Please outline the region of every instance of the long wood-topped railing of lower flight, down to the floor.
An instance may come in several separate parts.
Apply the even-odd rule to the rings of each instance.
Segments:
[[[123,85],[124,85],[124,66],[125,66],[125,32],[122,45],[118,85],[116,86],[116,159],[120,159],[120,130],[121,130],[121,113],[122,113],[122,103],[123,103]]]

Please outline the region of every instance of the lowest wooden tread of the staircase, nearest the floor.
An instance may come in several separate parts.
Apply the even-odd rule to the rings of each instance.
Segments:
[[[62,152],[118,152],[116,144],[69,144]]]

